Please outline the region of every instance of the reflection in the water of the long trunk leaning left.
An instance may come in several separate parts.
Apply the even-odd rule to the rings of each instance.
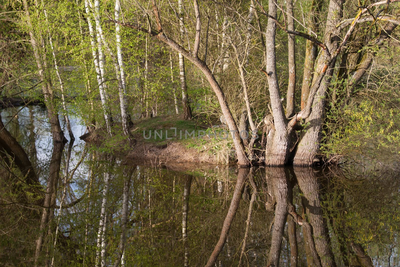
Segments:
[[[246,180],[248,173],[249,173],[249,169],[247,169],[247,168],[239,169],[238,179],[236,180],[235,191],[233,193],[232,200],[230,202],[228,214],[226,215],[224,224],[222,225],[220,238],[219,238],[217,244],[215,245],[214,250],[212,251],[212,253],[210,255],[210,258],[208,259],[206,267],[214,266],[214,263],[215,263],[218,255],[220,254],[220,252],[222,251],[222,248],[224,247],[226,237],[228,236],[228,233],[229,233],[230,226],[232,225],[232,221],[233,221],[236,211],[239,207],[240,193],[242,192],[244,181]]]

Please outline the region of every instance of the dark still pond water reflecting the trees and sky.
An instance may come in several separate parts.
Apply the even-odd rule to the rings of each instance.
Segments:
[[[4,124],[14,112],[2,110]],[[85,126],[70,120],[77,138]],[[6,128],[41,186],[21,185],[18,173],[1,179],[2,266],[33,266],[40,236],[38,266],[400,266],[397,171],[154,167],[77,138],[61,148],[54,215],[41,227],[34,200],[61,149],[40,107],[24,108]]]

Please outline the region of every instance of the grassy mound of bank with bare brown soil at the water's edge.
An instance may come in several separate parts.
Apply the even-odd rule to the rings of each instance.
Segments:
[[[113,153],[120,153],[130,161],[149,165],[182,166],[218,164],[228,165],[234,162],[235,152],[232,139],[224,138],[220,125],[207,124],[202,118],[183,120],[180,116],[157,116],[135,120],[131,132],[136,145],[128,145],[126,137],[119,134],[121,126],[113,127],[113,138],[107,137],[102,130],[96,131],[87,140]],[[217,120],[216,120],[217,121]],[[121,132],[122,133],[122,132]]]

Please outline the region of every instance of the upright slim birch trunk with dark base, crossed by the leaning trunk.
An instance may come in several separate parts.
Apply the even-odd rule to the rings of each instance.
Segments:
[[[184,42],[185,36],[185,24],[184,24],[184,10],[183,0],[178,0],[178,12],[179,12],[179,33],[180,33],[180,44]],[[185,120],[192,118],[192,110],[190,108],[188,99],[188,86],[186,84],[186,70],[185,70],[185,58],[182,53],[179,53],[179,77],[180,86],[182,89],[182,106]]]

